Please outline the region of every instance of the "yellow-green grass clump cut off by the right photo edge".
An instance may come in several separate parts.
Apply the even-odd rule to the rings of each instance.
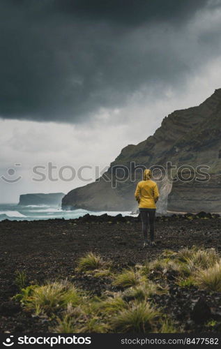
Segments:
[[[213,267],[199,270],[195,275],[195,281],[199,288],[221,292],[221,260]]]

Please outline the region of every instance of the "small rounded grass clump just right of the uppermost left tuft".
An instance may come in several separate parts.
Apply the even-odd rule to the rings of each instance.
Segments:
[[[114,286],[128,288],[139,285],[146,281],[146,277],[133,269],[125,269],[121,274],[117,275],[113,281]]]

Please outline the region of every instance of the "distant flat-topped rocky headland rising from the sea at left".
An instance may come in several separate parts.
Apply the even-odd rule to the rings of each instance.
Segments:
[[[20,195],[18,205],[61,205],[61,200],[65,196],[64,193],[49,193],[49,194],[24,194]]]

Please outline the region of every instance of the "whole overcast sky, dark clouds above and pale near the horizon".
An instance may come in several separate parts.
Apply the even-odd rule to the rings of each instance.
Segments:
[[[86,184],[59,169],[90,165],[95,179],[167,114],[213,94],[220,23],[221,0],[0,0],[0,177],[22,176],[0,179],[0,202]],[[59,180],[33,181],[49,162]]]

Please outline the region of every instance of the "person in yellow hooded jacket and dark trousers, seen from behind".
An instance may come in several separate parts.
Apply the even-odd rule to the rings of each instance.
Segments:
[[[139,212],[142,217],[142,232],[144,235],[144,248],[148,246],[147,230],[148,222],[150,225],[151,246],[154,242],[154,220],[155,220],[155,203],[159,198],[158,185],[151,180],[151,170],[144,170],[143,180],[139,181],[135,191],[135,198],[139,202]]]

